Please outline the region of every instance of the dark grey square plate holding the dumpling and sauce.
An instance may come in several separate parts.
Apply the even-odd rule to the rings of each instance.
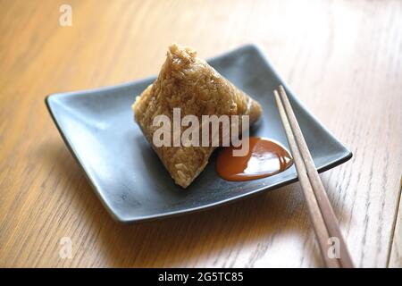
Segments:
[[[351,158],[350,151],[297,100],[258,47],[242,46],[208,62],[263,106],[263,118],[251,135],[275,139],[288,147],[272,95],[282,84],[318,170]],[[255,181],[224,181],[215,172],[215,154],[188,189],[175,185],[133,121],[130,107],[153,80],[155,77],[46,97],[66,145],[116,220],[132,223],[184,214],[297,181],[294,166]]]

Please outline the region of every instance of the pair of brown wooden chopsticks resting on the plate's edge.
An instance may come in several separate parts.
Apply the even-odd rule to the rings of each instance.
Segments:
[[[297,123],[289,98],[282,86],[279,87],[279,91],[280,93],[274,90],[273,94],[281,115],[281,122],[286,132],[297,170],[297,177],[303,189],[322,258],[327,267],[352,268],[352,259],[340,232],[338,220],[323,188],[320,176],[315,169],[313,158]]]

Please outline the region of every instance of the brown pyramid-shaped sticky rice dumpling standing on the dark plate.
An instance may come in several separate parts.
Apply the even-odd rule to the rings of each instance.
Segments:
[[[132,109],[147,141],[173,180],[183,188],[187,188],[204,170],[215,147],[156,147],[153,137],[160,127],[154,126],[154,118],[162,114],[172,120],[173,108],[180,108],[181,118],[191,114],[197,116],[200,122],[202,115],[225,114],[249,115],[252,124],[261,115],[261,105],[198,58],[194,50],[169,46],[157,79],[136,98]],[[199,126],[201,128],[201,124]],[[181,132],[187,128],[181,127]]]

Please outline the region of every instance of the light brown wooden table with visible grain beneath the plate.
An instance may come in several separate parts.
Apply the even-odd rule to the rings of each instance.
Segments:
[[[106,213],[44,98],[155,74],[172,42],[261,46],[354,153],[322,181],[356,265],[402,266],[401,1],[3,0],[0,31],[0,266],[322,266],[297,183],[153,223]]]

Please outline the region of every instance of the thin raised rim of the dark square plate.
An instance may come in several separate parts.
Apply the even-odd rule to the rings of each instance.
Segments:
[[[314,121],[315,124],[317,124],[322,130],[324,130],[327,135],[329,137],[331,137],[331,139],[333,139],[334,141],[336,141],[340,147],[342,147],[345,151],[345,155],[340,156],[338,159],[332,160],[331,162],[322,165],[322,167],[318,168],[317,171],[318,172],[325,172],[328,171],[336,166],[338,166],[339,164],[343,164],[345,162],[348,162],[348,160],[350,160],[353,156],[353,153],[348,149],[348,147],[346,147],[342,142],[339,141],[339,139],[337,139],[330,130],[328,130],[323,124],[322,122],[320,122],[313,113],[310,112],[310,110],[306,107],[306,105],[304,105],[300,99],[295,95],[295,93],[292,92],[292,89],[289,88],[289,86],[287,85],[287,83],[282,80],[281,76],[279,75],[279,73],[276,71],[276,69],[273,67],[272,63],[269,61],[268,57],[264,54],[264,51],[261,49],[260,46],[256,45],[256,44],[246,44],[243,46],[239,46],[237,48],[231,49],[230,51],[220,54],[220,55],[216,55],[214,57],[208,58],[207,62],[211,62],[214,60],[217,60],[219,58],[222,58],[223,56],[228,56],[230,54],[235,54],[235,53],[239,53],[242,50],[248,50],[248,49],[253,49],[255,50],[255,52],[264,60],[264,64],[272,71],[273,75],[277,78],[277,80],[281,81],[281,84],[283,85],[283,87],[287,90],[289,90],[289,94],[290,97],[292,98],[292,100],[294,100],[295,102],[297,102],[297,105],[300,106],[301,109],[303,109],[306,114],[308,114],[308,116],[311,117],[311,119]],[[243,194],[239,194],[238,196],[232,197],[232,198],[226,198],[220,201],[216,201],[213,203],[209,203],[203,206],[196,206],[196,207],[190,207],[190,208],[185,208],[185,209],[180,209],[180,210],[175,210],[175,211],[171,211],[171,212],[166,212],[166,213],[159,213],[159,214],[148,214],[148,215],[142,215],[142,216],[137,216],[137,217],[123,217],[122,215],[117,214],[113,208],[111,206],[109,206],[109,204],[107,203],[107,200],[105,199],[105,196],[102,194],[102,192],[99,190],[100,186],[98,186],[96,184],[96,181],[92,180],[92,178],[89,175],[88,170],[85,167],[85,164],[83,164],[78,152],[74,149],[74,147],[72,147],[72,143],[71,141],[68,139],[68,137],[66,136],[64,130],[63,130],[63,126],[61,125],[61,122],[58,122],[57,118],[56,118],[56,114],[55,114],[55,110],[54,110],[54,106],[52,106],[54,104],[54,101],[56,101],[59,97],[74,97],[80,94],[90,94],[90,93],[95,93],[95,92],[99,92],[99,91],[108,91],[111,89],[115,89],[115,88],[125,88],[125,87],[130,87],[132,85],[138,85],[150,80],[155,80],[156,76],[149,76],[147,78],[144,79],[140,79],[140,80],[132,80],[132,81],[128,81],[128,82],[123,82],[120,84],[115,84],[112,86],[105,86],[105,87],[100,87],[100,88],[88,88],[88,89],[81,89],[81,90],[75,90],[75,91],[67,91],[67,92],[57,92],[57,93],[52,93],[50,95],[47,95],[45,97],[45,104],[47,107],[47,111],[49,112],[49,114],[51,115],[51,118],[54,122],[54,125],[56,126],[57,130],[59,131],[64,144],[67,146],[67,148],[69,149],[71,155],[74,157],[74,159],[76,160],[76,162],[80,165],[81,170],[84,172],[90,186],[92,187],[92,189],[94,189],[95,193],[96,193],[96,197],[99,198],[99,200],[101,201],[102,205],[105,206],[106,210],[108,211],[109,214],[112,215],[113,219],[119,223],[140,223],[140,222],[148,222],[148,221],[154,221],[154,220],[159,220],[159,219],[163,219],[163,218],[168,218],[168,217],[173,217],[173,216],[178,216],[178,215],[182,215],[182,214],[191,214],[191,213],[197,213],[200,211],[204,211],[210,208],[214,208],[217,206],[223,206],[226,204],[230,204],[230,203],[234,203],[239,201],[242,198],[248,198],[248,197],[253,197],[256,196],[257,194],[263,194],[265,191],[268,190],[272,190],[272,189],[279,189],[283,186],[289,185],[293,182],[298,181],[297,177],[295,178],[290,178],[290,179],[286,179],[284,181],[280,181],[277,182],[271,186],[264,186],[262,185],[259,188],[253,189],[251,191],[248,191],[247,193],[243,193]],[[53,102],[53,103],[52,103]]]

